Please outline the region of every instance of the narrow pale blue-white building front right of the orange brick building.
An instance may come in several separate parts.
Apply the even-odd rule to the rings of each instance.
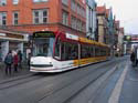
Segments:
[[[95,0],[86,0],[86,37],[95,40],[97,28],[96,2]]]

